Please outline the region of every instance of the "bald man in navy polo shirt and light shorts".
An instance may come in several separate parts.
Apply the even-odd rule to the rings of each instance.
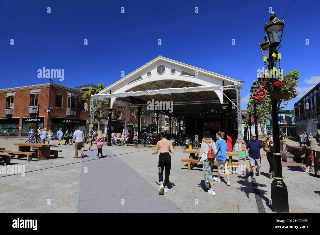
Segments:
[[[247,146],[245,146],[245,157],[249,157],[250,166],[252,169],[253,176],[252,178],[255,178],[256,176],[259,176],[259,169],[261,167],[261,158],[263,157],[263,147],[261,145],[261,142],[257,139],[256,134],[252,134],[251,136],[252,140],[249,140],[247,142]],[[249,156],[248,156],[248,149],[249,149]],[[257,173],[256,168],[257,167]]]

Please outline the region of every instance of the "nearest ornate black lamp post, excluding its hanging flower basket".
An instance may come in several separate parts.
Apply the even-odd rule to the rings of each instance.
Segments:
[[[275,65],[277,57],[272,57],[273,53],[277,54],[276,47],[282,45],[281,38],[284,28],[284,21],[279,20],[272,12],[270,22],[265,23],[264,32],[266,34],[265,41],[260,43],[260,49],[263,56],[268,59],[268,70],[271,71]],[[266,43],[268,41],[268,44]],[[269,73],[271,74],[271,72]],[[273,122],[273,138],[274,138],[274,180],[271,183],[272,210],[279,213],[289,213],[288,191],[284,184],[281,166],[280,140],[279,140],[279,124],[278,124],[278,103],[284,98],[283,92],[279,89],[269,90],[272,105],[272,122]]]

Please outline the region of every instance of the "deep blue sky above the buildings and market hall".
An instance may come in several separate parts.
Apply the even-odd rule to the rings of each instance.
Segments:
[[[0,89],[48,82],[37,77],[43,67],[64,69],[64,81],[54,81],[59,84],[107,86],[121,71],[128,74],[162,55],[245,81],[245,108],[263,67],[261,53],[251,63],[260,52],[269,7],[282,19],[292,2],[0,0]],[[284,17],[281,67],[300,71],[300,94],[320,82],[319,7],[316,0],[296,0]]]

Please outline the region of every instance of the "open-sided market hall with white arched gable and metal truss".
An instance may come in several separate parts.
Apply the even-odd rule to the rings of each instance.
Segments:
[[[173,110],[159,110],[156,113],[156,132],[159,113],[186,119],[186,134],[202,136],[209,130],[212,136],[223,131],[238,140],[236,150],[242,151],[241,132],[241,89],[243,81],[191,66],[173,59],[158,56],[140,68],[127,74],[91,96],[91,104],[96,101],[109,103],[108,119],[111,120],[112,107],[116,100],[138,109],[138,132],[140,133],[141,109],[150,102],[173,102]],[[93,127],[95,105],[90,106],[90,128]],[[108,122],[111,129],[111,121]],[[180,131],[180,127],[178,128]],[[172,128],[169,126],[169,133]],[[157,133],[158,134],[158,133]],[[108,132],[108,145],[111,145]]]

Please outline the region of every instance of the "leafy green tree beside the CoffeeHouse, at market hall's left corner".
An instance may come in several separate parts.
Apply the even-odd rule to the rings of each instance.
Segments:
[[[85,91],[84,94],[82,95],[82,98],[84,98],[86,100],[87,103],[90,103],[91,105],[91,99],[90,96],[94,95],[94,94],[98,94],[99,91],[103,90],[103,83],[100,82],[98,85],[98,90],[94,90],[92,88],[90,88],[90,90]],[[100,120],[103,116],[103,114],[105,114],[108,111],[108,107],[109,107],[109,103],[108,102],[104,102],[104,101],[96,101],[95,102],[95,108],[96,111],[94,112],[94,116],[97,118],[98,121],[98,130],[100,130]]]

